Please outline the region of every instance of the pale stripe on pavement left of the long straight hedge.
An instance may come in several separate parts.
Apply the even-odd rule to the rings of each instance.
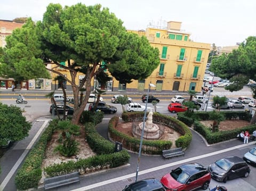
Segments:
[[[19,157],[18,161],[14,164],[14,166],[12,167],[11,171],[8,173],[8,175],[5,177],[5,179],[3,180],[2,184],[0,185],[0,190],[4,190],[5,186],[7,185],[7,183],[10,181],[10,179],[12,178],[14,172],[18,169],[20,163],[23,161],[23,159],[26,157],[26,155],[28,154],[30,148],[32,147],[32,145],[35,143],[37,137],[41,134],[42,130],[44,129],[44,127],[46,126],[47,122],[49,120],[45,120],[44,124],[41,126],[41,128],[37,131],[37,134],[35,135],[35,137],[31,140],[31,142],[29,143],[29,145],[27,146],[26,150],[22,153],[22,155]]]

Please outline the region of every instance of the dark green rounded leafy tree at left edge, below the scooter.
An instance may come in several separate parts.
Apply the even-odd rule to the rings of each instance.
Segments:
[[[22,115],[20,107],[0,102],[0,145],[9,140],[22,140],[28,136],[31,124]]]

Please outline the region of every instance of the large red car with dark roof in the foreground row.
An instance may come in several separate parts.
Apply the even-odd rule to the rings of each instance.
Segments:
[[[160,181],[167,190],[207,189],[211,181],[211,175],[207,168],[201,164],[191,163],[172,170],[164,175]]]

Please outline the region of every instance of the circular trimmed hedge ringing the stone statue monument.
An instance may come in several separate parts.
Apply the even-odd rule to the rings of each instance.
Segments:
[[[144,112],[124,112],[122,114],[122,119],[125,122],[129,122],[132,120],[143,120]],[[175,145],[177,147],[185,148],[187,147],[191,140],[192,140],[192,134],[188,127],[182,123],[181,121],[168,117],[166,115],[162,115],[159,113],[154,113],[153,118],[154,123],[160,123],[167,127],[170,127],[178,132],[182,136],[180,136],[176,141]],[[121,142],[123,144],[123,147],[127,148],[128,150],[138,152],[139,151],[139,145],[140,145],[140,139],[127,136],[126,134],[123,134],[122,132],[119,132],[116,130],[116,126],[119,122],[118,117],[114,117],[109,121],[109,134],[110,137],[118,142]],[[162,154],[163,150],[170,149],[172,146],[172,142],[167,140],[143,140],[143,147],[142,147],[142,153],[147,154]]]

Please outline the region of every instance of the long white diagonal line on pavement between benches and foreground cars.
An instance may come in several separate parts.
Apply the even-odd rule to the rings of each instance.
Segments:
[[[249,145],[252,145],[252,144],[255,144],[255,143],[256,143],[256,141],[249,143]],[[146,173],[153,172],[153,171],[156,171],[156,170],[161,170],[161,169],[169,168],[169,167],[172,167],[174,165],[178,165],[178,164],[182,164],[182,163],[187,163],[187,162],[194,161],[194,160],[197,160],[197,159],[203,159],[205,157],[209,157],[209,156],[220,154],[220,153],[225,153],[225,152],[228,152],[228,151],[231,151],[231,150],[236,150],[238,148],[242,148],[242,147],[246,147],[246,146],[248,146],[248,144],[237,145],[237,146],[234,146],[234,147],[226,148],[224,150],[215,151],[215,152],[212,152],[212,153],[191,157],[189,159],[184,159],[184,160],[181,160],[181,161],[164,164],[164,165],[161,165],[161,166],[158,166],[158,167],[154,167],[154,168],[151,168],[151,169],[142,170],[138,174],[139,175],[144,175]],[[132,178],[132,177],[135,177],[135,175],[136,175],[136,173],[134,172],[134,173],[131,173],[130,175],[125,175],[125,176],[122,176],[122,177],[117,177],[117,178],[105,180],[105,181],[98,182],[98,183],[95,183],[95,184],[92,184],[92,185],[88,185],[88,186],[85,186],[85,187],[73,189],[71,191],[89,190],[89,189],[100,187],[100,186],[104,186],[104,185],[107,185],[107,184],[110,184],[110,183],[113,183],[113,182],[121,181],[121,180],[124,180],[124,179],[127,179],[127,178]]]

